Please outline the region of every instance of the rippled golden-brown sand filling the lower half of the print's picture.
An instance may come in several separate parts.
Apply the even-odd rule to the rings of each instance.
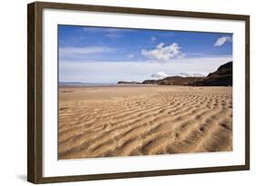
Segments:
[[[58,92],[58,159],[232,151],[231,87]]]

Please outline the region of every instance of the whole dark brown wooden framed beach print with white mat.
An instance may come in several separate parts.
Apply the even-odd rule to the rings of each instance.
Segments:
[[[27,180],[250,169],[250,16],[28,5]]]

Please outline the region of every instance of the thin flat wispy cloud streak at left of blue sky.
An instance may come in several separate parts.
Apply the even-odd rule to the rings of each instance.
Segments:
[[[59,48],[59,55],[64,57],[70,57],[72,55],[80,54],[99,54],[99,53],[109,53],[114,51],[114,48],[109,48],[105,46],[87,46],[87,47],[62,47]]]

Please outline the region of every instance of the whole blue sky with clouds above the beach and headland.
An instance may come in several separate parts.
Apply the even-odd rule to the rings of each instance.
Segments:
[[[58,25],[60,82],[207,75],[232,59],[232,34]]]

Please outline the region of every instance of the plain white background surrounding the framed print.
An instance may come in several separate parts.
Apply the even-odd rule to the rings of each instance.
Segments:
[[[0,115],[1,115],[1,185],[30,185],[26,182],[26,4],[33,1],[9,0],[1,5],[0,31]],[[74,0],[58,3],[118,5],[142,8],[172,9],[197,12],[251,15],[251,69],[256,69],[256,13],[253,1],[209,0]],[[251,70],[251,171],[218,172],[168,177],[139,178],[111,181],[64,183],[64,185],[249,185],[256,176],[255,97],[256,73]],[[138,182],[139,181],[139,182]],[[60,185],[55,184],[55,185]],[[51,184],[50,184],[51,185]]]

